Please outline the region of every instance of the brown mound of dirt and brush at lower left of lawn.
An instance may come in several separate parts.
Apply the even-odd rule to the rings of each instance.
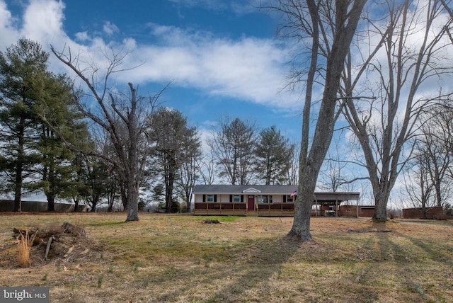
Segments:
[[[44,227],[16,227],[11,239],[1,246],[2,258],[0,267],[16,268],[18,266],[18,243],[21,235],[33,236],[30,248],[31,267],[55,263],[62,265],[74,261],[96,261],[101,258],[103,246],[88,238],[85,229],[64,222],[61,225],[48,224]]]

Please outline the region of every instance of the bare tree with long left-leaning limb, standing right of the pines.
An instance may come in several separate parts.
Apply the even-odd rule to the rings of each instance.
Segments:
[[[145,134],[147,119],[161,96],[157,93],[148,98],[137,96],[137,88],[129,83],[129,93],[117,93],[109,87],[109,78],[120,72],[120,66],[127,53],[111,52],[105,55],[108,61],[105,70],[96,67],[96,62],[86,65],[79,55],[73,57],[69,48],[61,52],[51,46],[54,55],[69,67],[86,84],[88,97],[86,102],[76,102],[77,108],[86,118],[108,133],[115,157],[96,154],[105,161],[110,161],[122,188],[122,200],[127,212],[126,221],[137,221],[139,188],[144,178],[144,168],[149,154],[149,140]],[[106,54],[106,53],[105,53]],[[100,75],[104,72],[103,75]],[[101,77],[101,81],[97,77]],[[164,88],[165,89],[165,88]],[[94,101],[92,103],[91,101]]]

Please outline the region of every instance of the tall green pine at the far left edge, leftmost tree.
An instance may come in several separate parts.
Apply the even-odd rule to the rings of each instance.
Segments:
[[[0,52],[0,171],[4,192],[13,192],[15,212],[21,211],[23,185],[39,162],[35,108],[45,90],[48,57],[37,42],[26,39]]]

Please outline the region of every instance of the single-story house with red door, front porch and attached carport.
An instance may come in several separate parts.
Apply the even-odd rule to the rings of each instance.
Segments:
[[[194,215],[293,216],[297,185],[195,185]],[[360,193],[316,192],[314,215],[338,215],[343,201]]]

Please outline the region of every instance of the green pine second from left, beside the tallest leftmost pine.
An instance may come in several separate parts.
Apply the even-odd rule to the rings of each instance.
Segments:
[[[41,165],[40,178],[32,185],[45,193],[49,211],[55,210],[55,198],[72,198],[80,189],[74,176],[79,169],[74,149],[91,147],[83,116],[74,105],[77,96],[67,76],[47,74],[45,94],[35,109],[40,125]]]

